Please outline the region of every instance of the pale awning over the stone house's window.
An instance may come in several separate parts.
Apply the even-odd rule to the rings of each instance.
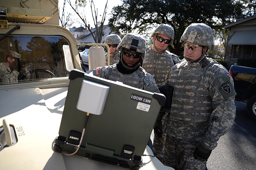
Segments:
[[[236,31],[228,41],[229,45],[256,45],[256,30]]]

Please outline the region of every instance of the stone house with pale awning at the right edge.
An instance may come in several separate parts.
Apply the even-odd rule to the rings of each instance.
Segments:
[[[240,58],[256,59],[256,15],[224,26],[229,29],[225,61],[229,68]]]

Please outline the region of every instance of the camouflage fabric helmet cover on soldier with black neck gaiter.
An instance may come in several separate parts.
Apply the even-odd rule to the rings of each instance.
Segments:
[[[139,40],[138,46],[132,46],[133,39]],[[117,46],[116,50],[117,51],[121,50],[121,47],[127,48],[127,49],[130,49],[131,47],[136,48],[136,52],[142,53],[142,59],[143,59],[146,53],[146,39],[141,35],[128,33],[124,36],[121,43]]]

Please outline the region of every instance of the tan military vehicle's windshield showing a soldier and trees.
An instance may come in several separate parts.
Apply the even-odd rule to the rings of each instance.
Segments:
[[[0,46],[0,85],[68,77],[73,69],[61,36],[7,36]]]

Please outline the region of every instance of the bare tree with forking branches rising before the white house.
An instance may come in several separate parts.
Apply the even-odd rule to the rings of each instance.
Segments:
[[[100,14],[100,16],[102,16],[100,21],[98,21],[98,9],[95,9],[95,4],[94,4],[93,0],[89,0],[92,17],[93,17],[93,22],[94,22],[94,26],[95,26],[95,32],[92,32],[90,26],[86,24],[85,12],[81,12],[81,11],[84,11],[84,7],[86,5],[86,0],[76,0],[75,5],[72,5],[70,0],[67,0],[67,2],[71,6],[71,8],[75,11],[76,15],[81,19],[82,23],[80,23],[80,24],[84,25],[85,28],[87,28],[91,32],[92,37],[96,43],[100,43],[102,40],[102,36],[103,36],[103,24],[107,17],[108,0],[105,4],[105,9],[104,9],[103,13]]]

